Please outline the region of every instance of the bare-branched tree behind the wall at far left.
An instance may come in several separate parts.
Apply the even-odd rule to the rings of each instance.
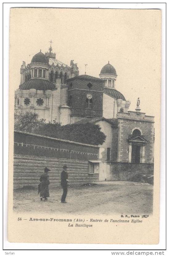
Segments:
[[[31,111],[14,113],[14,129],[31,131],[38,124],[39,115]]]

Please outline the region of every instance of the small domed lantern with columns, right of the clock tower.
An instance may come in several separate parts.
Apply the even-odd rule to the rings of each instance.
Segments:
[[[115,68],[109,63],[106,64],[100,72],[100,78],[103,79],[104,82],[104,87],[111,87],[115,89],[115,81],[116,81],[116,70]]]

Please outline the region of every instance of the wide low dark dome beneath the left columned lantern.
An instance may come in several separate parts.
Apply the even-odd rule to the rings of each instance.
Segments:
[[[19,86],[20,90],[54,90],[55,85],[52,82],[44,79],[30,79]]]

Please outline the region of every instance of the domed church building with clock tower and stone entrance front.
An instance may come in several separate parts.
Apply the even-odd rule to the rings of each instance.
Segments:
[[[46,122],[62,125],[93,122],[107,136],[100,145],[103,161],[153,163],[154,117],[129,111],[130,101],[116,88],[117,73],[108,62],[99,77],[79,75],[74,60],[70,66],[52,52],[23,61],[20,85],[15,92],[15,111],[30,110]]]

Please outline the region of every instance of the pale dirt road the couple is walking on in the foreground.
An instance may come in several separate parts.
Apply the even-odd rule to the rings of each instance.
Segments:
[[[68,188],[67,204],[62,204],[61,188],[51,188],[47,201],[40,201],[37,190],[14,190],[14,212],[151,214],[153,186],[128,181],[99,182]]]

